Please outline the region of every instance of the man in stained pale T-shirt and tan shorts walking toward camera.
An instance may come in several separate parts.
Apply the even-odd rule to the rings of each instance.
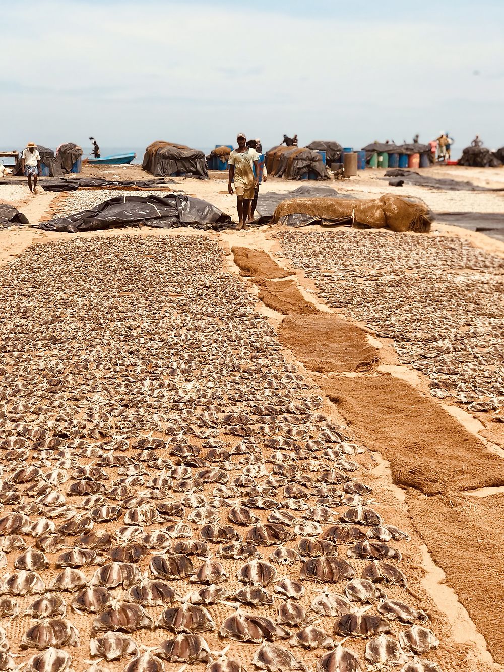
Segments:
[[[240,231],[247,228],[249,204],[254,198],[254,188],[259,184],[259,155],[255,149],[247,147],[245,133],[237,135],[237,142],[238,149],[230,153],[228,160],[228,192],[233,196],[231,182],[234,179],[237,192],[238,230]],[[254,168],[256,177],[254,177]]]

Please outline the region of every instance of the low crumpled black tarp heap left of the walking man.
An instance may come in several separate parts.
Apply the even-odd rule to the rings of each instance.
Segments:
[[[46,231],[96,231],[114,226],[145,224],[155,228],[176,228],[195,226],[196,228],[226,228],[231,218],[211,203],[181,196],[116,196],[98,204],[91,210],[83,210],[68,217],[60,217],[42,222],[40,228]]]

